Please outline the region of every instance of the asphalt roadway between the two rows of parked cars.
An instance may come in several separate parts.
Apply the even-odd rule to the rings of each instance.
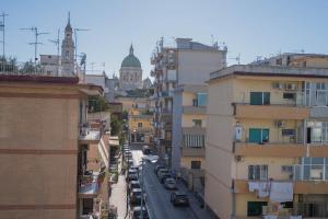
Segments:
[[[139,164],[143,157],[140,146],[131,146],[134,164]],[[169,201],[171,191],[164,188],[154,174],[153,164],[144,164],[144,183],[147,206],[151,218],[156,219],[192,219],[196,218],[189,207],[174,207]]]

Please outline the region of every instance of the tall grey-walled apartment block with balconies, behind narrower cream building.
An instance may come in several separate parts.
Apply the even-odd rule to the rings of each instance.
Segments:
[[[174,89],[209,80],[210,72],[226,66],[226,47],[208,46],[191,38],[176,38],[175,45],[168,46],[162,38],[151,64],[155,88],[154,145],[160,158],[171,165]]]

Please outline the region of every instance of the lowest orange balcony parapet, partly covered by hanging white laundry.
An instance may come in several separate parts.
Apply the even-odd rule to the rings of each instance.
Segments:
[[[234,192],[236,194],[250,193],[248,187],[248,182],[249,182],[248,180],[234,180]],[[328,194],[327,181],[282,181],[282,182],[293,182],[294,194]]]

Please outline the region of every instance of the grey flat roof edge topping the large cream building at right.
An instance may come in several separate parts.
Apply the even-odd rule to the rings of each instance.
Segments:
[[[235,65],[212,72],[210,74],[210,80],[224,78],[232,74],[263,76],[263,77],[328,78],[328,69],[296,68],[290,66]]]

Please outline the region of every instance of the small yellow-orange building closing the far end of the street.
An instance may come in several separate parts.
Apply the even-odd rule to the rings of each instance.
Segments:
[[[131,108],[129,111],[129,131],[131,143],[151,143],[153,141],[153,115]]]

